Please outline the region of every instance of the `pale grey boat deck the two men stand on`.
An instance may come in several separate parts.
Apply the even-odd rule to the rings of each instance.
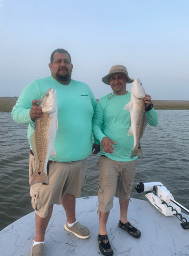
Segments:
[[[54,205],[52,217],[45,234],[46,256],[98,256],[97,197],[85,197],[76,201],[76,218],[89,228],[88,239],[78,239],[64,229],[66,215],[61,205]],[[189,220],[189,216],[182,214]],[[120,256],[185,256],[189,255],[189,229],[184,230],[175,217],[166,217],[148,201],[131,198],[128,220],[141,231],[139,239],[133,238],[118,227],[119,201],[107,222],[107,234],[114,250]],[[29,256],[35,236],[35,212],[22,217],[0,232],[0,255]]]

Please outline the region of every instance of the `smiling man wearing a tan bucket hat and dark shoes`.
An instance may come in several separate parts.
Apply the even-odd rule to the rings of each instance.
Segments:
[[[119,198],[119,227],[126,230],[134,238],[139,238],[141,232],[127,220],[127,209],[133,186],[138,157],[130,158],[133,148],[133,136],[128,136],[130,128],[130,113],[124,111],[124,106],[130,102],[130,92],[126,84],[134,79],[128,76],[123,65],[115,65],[109,74],[102,78],[105,84],[111,86],[113,93],[99,99],[93,118],[92,130],[100,141],[100,158],[98,161],[98,214],[99,214],[99,248],[103,255],[113,255],[112,247],[107,237],[106,222],[110,209],[113,208],[114,197]],[[146,116],[151,126],[158,123],[157,113],[151,103],[151,96],[145,95]]]

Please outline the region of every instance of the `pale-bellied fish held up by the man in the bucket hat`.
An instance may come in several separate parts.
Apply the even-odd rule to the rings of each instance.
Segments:
[[[144,103],[145,90],[139,78],[135,79],[131,88],[130,102],[126,104],[125,109],[130,112],[131,126],[128,135],[134,136],[134,145],[131,157],[143,156],[140,138],[142,137],[148,119],[146,117],[146,107]]]

